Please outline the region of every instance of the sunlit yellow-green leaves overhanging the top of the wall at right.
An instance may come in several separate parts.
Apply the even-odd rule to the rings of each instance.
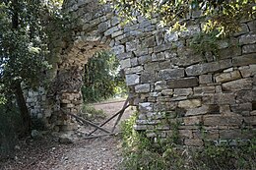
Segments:
[[[108,0],[102,0],[109,2]],[[170,25],[180,29],[187,22],[187,16],[193,12],[202,12],[202,21],[206,32],[218,30],[219,35],[232,33],[239,29],[237,21],[255,17],[254,0],[110,0],[118,15],[128,21],[136,20],[136,15],[147,18],[159,16],[161,25]]]

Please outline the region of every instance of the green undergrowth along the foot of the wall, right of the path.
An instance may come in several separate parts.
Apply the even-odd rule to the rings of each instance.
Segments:
[[[233,170],[256,169],[256,139],[245,145],[206,143],[188,147],[166,140],[146,138],[133,129],[137,114],[121,125],[122,170]]]

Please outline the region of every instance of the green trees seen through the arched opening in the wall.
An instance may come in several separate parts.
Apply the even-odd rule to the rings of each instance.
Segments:
[[[126,87],[119,70],[117,59],[107,51],[98,52],[89,59],[82,87],[84,101],[96,102],[124,93]]]

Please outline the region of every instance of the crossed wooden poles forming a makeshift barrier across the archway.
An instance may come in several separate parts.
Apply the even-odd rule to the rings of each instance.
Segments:
[[[121,110],[119,110],[117,113],[115,113],[114,115],[112,115],[110,118],[108,118],[105,122],[103,122],[102,124],[100,124],[99,126],[96,125],[95,123],[93,122],[90,122],[86,119],[83,119],[77,115],[74,115],[72,113],[68,113],[67,111],[61,109],[61,111],[64,113],[64,114],[67,114],[67,115],[70,115],[72,117],[74,117],[77,121],[82,121],[84,124],[89,124],[93,127],[95,127],[96,129],[94,131],[92,131],[91,133],[89,133],[88,137],[84,138],[85,140],[88,140],[88,139],[95,139],[95,138],[99,138],[99,137],[104,137],[104,136],[111,136],[111,135],[114,135],[114,130],[116,128],[116,126],[118,125],[119,121],[121,120],[122,116],[123,116],[123,113],[124,111],[130,106],[129,104],[129,101],[131,99],[131,94],[128,95],[127,99],[125,100],[124,104],[123,104],[123,107]],[[119,115],[119,116],[118,116]],[[112,119],[114,119],[116,116],[117,119],[115,121],[115,124],[111,130],[111,132],[109,132],[108,130],[102,128],[102,126],[104,126],[106,123],[108,123],[109,121],[111,121]],[[98,136],[92,136],[97,130],[101,130],[102,132],[106,133],[106,134],[101,134],[101,135],[98,135]]]

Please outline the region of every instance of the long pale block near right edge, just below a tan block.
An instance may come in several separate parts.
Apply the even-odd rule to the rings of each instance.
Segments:
[[[238,91],[252,89],[252,80],[250,79],[240,79],[223,84],[224,91]]]

